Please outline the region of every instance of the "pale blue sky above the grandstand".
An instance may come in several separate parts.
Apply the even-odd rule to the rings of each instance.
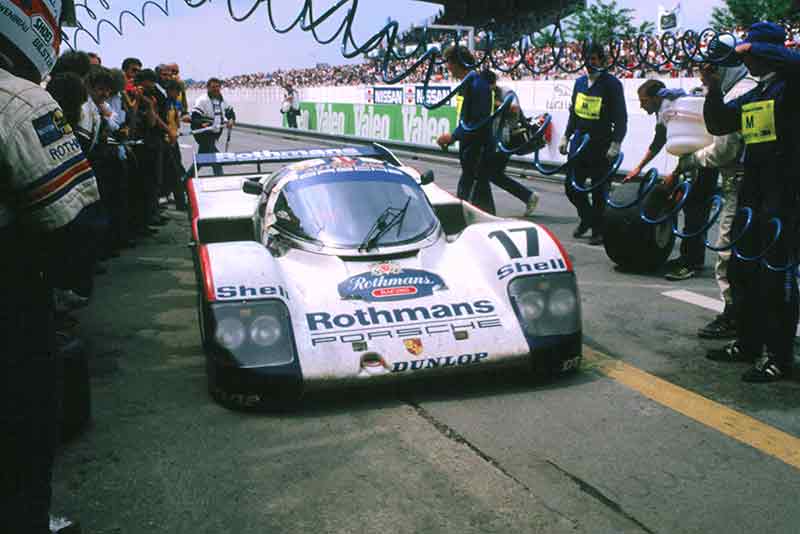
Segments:
[[[141,16],[145,0],[81,0],[85,1],[99,18],[117,22],[122,9],[130,9]],[[272,72],[277,69],[307,68],[317,63],[332,65],[353,63],[341,53],[341,36],[334,42],[318,44],[310,32],[299,27],[288,33],[276,33],[268,20],[266,2],[262,2],[255,14],[244,22],[235,22],[228,13],[228,0],[208,1],[201,7],[190,8],[184,0],[155,0],[160,5],[168,2],[169,16],[152,5],[146,8],[142,27],[134,19],[125,17],[123,35],[118,35],[110,26],[103,25],[100,44],[86,34],[79,34],[75,41],[81,50],[98,52],[103,64],[116,67],[129,56],[140,58],[145,66],[158,63],[178,62],[184,79],[207,79],[211,76],[228,77],[251,72]],[[197,3],[197,0],[193,0]],[[590,0],[593,1],[593,0]],[[103,2],[110,10],[103,8]],[[242,15],[257,0],[232,0],[237,16]],[[617,0],[620,7],[632,8],[638,21],[655,21],[659,2],[646,0]],[[273,0],[276,24],[286,26],[297,17],[304,0]],[[335,4],[334,0],[314,0],[316,12]],[[666,7],[673,7],[675,0],[666,0]],[[683,24],[686,28],[703,29],[708,25],[711,9],[723,5],[722,0],[683,0]],[[401,31],[411,24],[421,24],[434,16],[441,6],[413,0],[361,0],[355,17],[353,34],[358,44],[378,32],[391,18],[400,24]],[[78,7],[78,18],[87,28],[97,24],[87,12]],[[344,18],[344,11],[337,11],[320,27],[319,37],[329,38]],[[71,32],[68,32],[71,35]]]

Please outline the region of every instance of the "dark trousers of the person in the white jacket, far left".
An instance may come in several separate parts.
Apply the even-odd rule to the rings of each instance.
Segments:
[[[0,288],[0,531],[45,534],[60,398],[50,290],[15,279]]]

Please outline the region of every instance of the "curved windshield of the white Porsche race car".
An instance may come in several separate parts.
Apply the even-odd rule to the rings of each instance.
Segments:
[[[403,223],[382,232],[370,248],[404,245],[428,236],[436,216],[414,180],[394,169],[342,172],[317,169],[286,184],[274,208],[275,226],[301,239],[336,248],[363,248],[364,236],[388,212]]]

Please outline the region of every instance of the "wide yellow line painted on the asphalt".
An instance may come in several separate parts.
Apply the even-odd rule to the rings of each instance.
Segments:
[[[628,386],[645,397],[800,469],[800,439],[632,365],[583,346],[585,367]]]

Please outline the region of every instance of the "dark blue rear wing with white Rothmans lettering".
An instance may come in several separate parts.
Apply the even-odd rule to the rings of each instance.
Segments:
[[[219,152],[216,154],[197,154],[195,165],[198,169],[212,165],[261,165],[266,163],[292,163],[315,158],[330,157],[375,158],[393,165],[402,165],[392,152],[379,143],[370,146],[351,146],[339,148],[295,148],[291,150],[255,150],[251,152]]]

